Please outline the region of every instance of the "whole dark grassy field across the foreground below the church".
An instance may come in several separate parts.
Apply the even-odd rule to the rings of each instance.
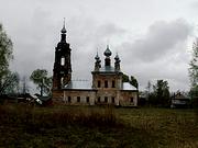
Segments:
[[[198,113],[0,105],[0,147],[198,148]]]

